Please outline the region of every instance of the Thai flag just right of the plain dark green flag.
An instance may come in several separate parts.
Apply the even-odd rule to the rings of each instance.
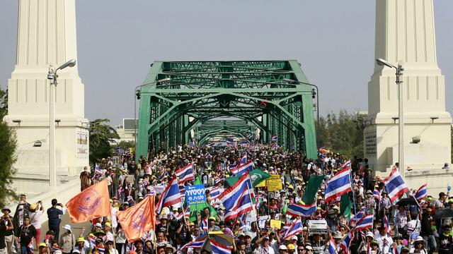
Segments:
[[[334,198],[352,191],[349,167],[341,169],[337,174],[328,179],[324,201],[328,202]]]

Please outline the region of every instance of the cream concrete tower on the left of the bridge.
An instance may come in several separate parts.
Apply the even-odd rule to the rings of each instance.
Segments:
[[[8,80],[8,115],[18,140],[15,187],[40,193],[50,186],[49,66],[77,59],[74,0],[19,0],[17,61]],[[88,166],[88,120],[77,66],[58,73],[55,88],[57,185]],[[41,141],[42,145],[36,147]]]

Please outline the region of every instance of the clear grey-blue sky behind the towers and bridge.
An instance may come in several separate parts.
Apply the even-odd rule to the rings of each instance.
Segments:
[[[381,1],[381,0],[379,0]],[[296,59],[319,86],[320,113],[367,110],[373,0],[76,0],[85,114],[134,116],[134,87],[153,61]],[[16,62],[17,0],[0,3],[0,86]],[[435,0],[437,61],[453,112],[453,1]]]

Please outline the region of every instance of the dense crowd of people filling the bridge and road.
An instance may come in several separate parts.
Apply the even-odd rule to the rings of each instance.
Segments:
[[[251,187],[253,210],[225,219],[229,211],[218,197],[231,188],[228,180],[235,176],[234,169],[241,166],[244,157],[247,163],[252,162],[253,169],[268,176],[277,175],[281,188],[268,191],[265,181]],[[157,201],[175,172],[188,164],[192,165],[194,176],[181,184],[181,191],[183,186],[204,185],[205,205],[195,211],[192,207],[186,209],[187,202],[164,207],[157,214],[155,231],[144,232],[137,241],[127,241],[122,229],[125,225],[118,222],[117,212],[133,207],[149,193],[156,193]],[[345,198],[326,202],[328,179],[345,167],[350,170],[352,191],[345,193]],[[168,153],[140,157],[137,162],[132,154],[122,156],[120,163],[107,158],[92,169],[86,167],[80,179],[81,191],[107,181],[111,216],[93,219],[91,230],[75,236],[71,225],[60,225],[66,212],[63,204],[52,200],[46,211],[41,202],[29,204],[21,195],[13,217],[9,207],[1,210],[4,216],[0,237],[4,241],[0,238],[0,254],[31,253],[33,242],[42,254],[217,253],[214,246],[205,248],[206,243],[196,246],[202,238],[223,241],[221,246],[229,245],[226,253],[240,254],[453,253],[452,221],[447,214],[453,198],[449,198],[449,193],[418,199],[413,195],[419,186],[411,186],[415,188],[411,193],[392,201],[386,193],[386,179],[374,173],[367,159],[348,159],[330,152],[320,154],[319,159],[307,159],[300,152],[287,152],[277,145],[178,146]],[[291,205],[312,205],[304,203],[304,195],[313,191],[309,184],[314,176],[322,176],[314,190],[316,209],[307,216],[287,214]],[[398,202],[404,198],[406,202]],[[350,204],[346,209],[344,199]],[[45,212],[49,231],[41,237],[40,217]],[[356,230],[359,214],[372,214],[372,224]],[[314,221],[320,223],[311,223]],[[297,222],[302,225],[300,230],[288,234]],[[312,225],[321,227],[315,230]]]

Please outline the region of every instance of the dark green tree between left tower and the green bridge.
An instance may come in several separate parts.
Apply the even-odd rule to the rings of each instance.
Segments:
[[[108,119],[96,119],[90,122],[90,162],[95,164],[102,158],[113,155],[110,142],[120,138],[115,128],[109,126]]]

